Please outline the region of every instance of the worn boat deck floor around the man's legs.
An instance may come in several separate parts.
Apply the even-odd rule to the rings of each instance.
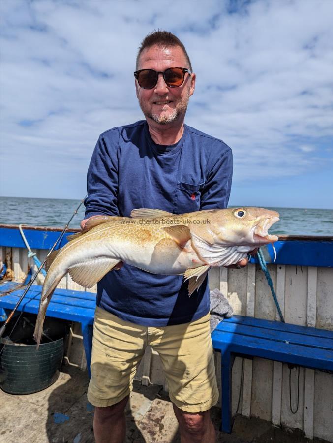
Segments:
[[[49,388],[29,395],[10,395],[0,390],[1,443],[93,443],[93,408],[87,401],[88,375],[64,366]],[[219,428],[220,410],[212,420]],[[135,382],[126,410],[126,443],[180,443],[178,425],[170,400],[160,386]],[[217,432],[225,443],[311,442],[298,430],[272,427],[269,422],[238,416],[231,435]],[[314,439],[313,443],[328,443]]]

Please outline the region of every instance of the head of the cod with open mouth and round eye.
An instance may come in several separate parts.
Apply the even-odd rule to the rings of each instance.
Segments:
[[[276,235],[268,229],[279,219],[279,213],[264,208],[229,208],[216,210],[211,217],[211,232],[214,242],[220,245],[253,246],[274,243]]]

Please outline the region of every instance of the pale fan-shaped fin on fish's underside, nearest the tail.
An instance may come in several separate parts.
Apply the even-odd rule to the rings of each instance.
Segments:
[[[101,257],[86,263],[74,265],[69,268],[68,272],[74,282],[83,287],[91,288],[118,263],[120,263],[119,259]]]

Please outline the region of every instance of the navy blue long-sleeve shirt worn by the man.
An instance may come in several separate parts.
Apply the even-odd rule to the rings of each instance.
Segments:
[[[226,208],[232,180],[231,149],[221,140],[184,125],[172,146],[153,142],[146,121],[100,135],[88,170],[85,218],[129,217],[132,209],[174,214]],[[209,312],[206,278],[188,297],[182,276],[156,275],[124,265],[97,285],[97,305],[145,326],[187,323]]]

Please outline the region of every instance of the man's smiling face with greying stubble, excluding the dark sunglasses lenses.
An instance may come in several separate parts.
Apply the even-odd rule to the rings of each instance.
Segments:
[[[182,48],[179,46],[151,46],[144,49],[139,59],[139,69],[154,69],[163,72],[170,67],[189,68]],[[195,74],[185,73],[181,86],[170,88],[163,76],[158,76],[157,84],[152,89],[143,89],[135,80],[136,96],[146,119],[152,119],[160,125],[171,124],[178,118],[184,118],[189,97],[195,87]]]

